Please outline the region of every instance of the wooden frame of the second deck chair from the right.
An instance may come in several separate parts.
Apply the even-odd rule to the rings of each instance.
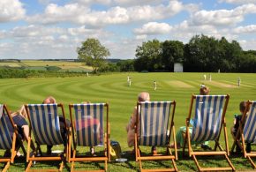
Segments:
[[[217,137],[214,140],[215,141],[215,148],[214,148],[213,151],[193,151],[192,150],[192,144],[191,144],[191,135],[189,133],[190,120],[192,119],[191,117],[192,117],[193,102],[197,98],[200,99],[200,97],[201,97],[201,99],[204,99],[204,98],[207,99],[207,97],[212,97],[212,98],[215,99],[218,96],[222,97],[224,99],[224,100],[222,100],[222,101],[224,101],[223,102],[224,104],[222,106],[222,118],[219,119],[220,120],[220,127],[219,127],[219,131],[218,131],[219,133],[216,132]],[[227,135],[227,129],[226,129],[225,114],[226,114],[226,110],[227,110],[227,107],[228,107],[229,100],[230,100],[230,95],[229,94],[227,94],[227,95],[192,95],[191,104],[190,104],[190,108],[189,108],[189,114],[188,114],[188,117],[186,118],[186,121],[185,121],[185,123],[186,123],[186,133],[185,133],[185,139],[184,139],[183,154],[184,154],[185,145],[187,143],[189,156],[190,157],[192,156],[193,161],[195,161],[195,164],[196,164],[197,168],[199,169],[199,171],[223,171],[223,170],[235,171],[235,168],[232,165],[232,163],[231,163],[231,161],[228,157],[230,155],[230,152],[229,152],[229,145],[228,145],[228,135]],[[196,101],[196,103],[197,103],[197,101]],[[207,115],[208,115],[208,112],[207,112]],[[207,120],[205,120],[204,122],[207,123],[206,121]],[[225,140],[225,148],[226,148],[225,150],[223,150],[222,146],[219,143],[219,138],[220,138],[222,129],[223,129],[223,132],[224,132],[224,140]],[[194,130],[194,128],[193,128],[193,130]],[[202,141],[207,141],[207,140],[202,140]],[[217,148],[219,148],[219,151],[217,151]],[[197,160],[196,156],[209,156],[209,155],[223,155],[225,157],[225,160],[228,162],[229,167],[224,167],[224,168],[202,168],[202,167],[200,167],[200,163]]]

